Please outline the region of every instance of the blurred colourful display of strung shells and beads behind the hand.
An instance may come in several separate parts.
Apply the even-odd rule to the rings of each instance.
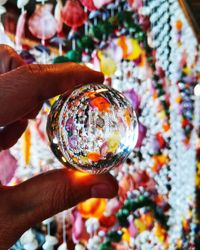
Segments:
[[[18,3],[22,13],[26,2]],[[90,199],[55,215],[12,249],[197,249],[200,51],[178,0],[67,0],[63,5],[58,0],[54,12],[46,1],[36,3],[31,17],[20,16],[16,43],[1,23],[0,39],[12,43],[27,63],[77,62],[101,70],[105,85],[132,104],[139,136],[126,162],[111,170],[118,197]],[[3,4],[0,13],[6,15]],[[43,25],[46,20],[50,26]],[[42,45],[32,47],[23,39],[27,23]],[[59,54],[46,46],[50,38]],[[15,185],[62,167],[45,132],[55,100],[48,100],[22,139],[0,155],[1,163],[12,161],[9,173],[0,164],[4,183]]]

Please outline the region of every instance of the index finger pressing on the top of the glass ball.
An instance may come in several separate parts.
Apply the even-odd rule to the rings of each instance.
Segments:
[[[103,80],[102,73],[76,63],[24,65],[4,73],[0,76],[0,126],[24,117],[41,101]]]

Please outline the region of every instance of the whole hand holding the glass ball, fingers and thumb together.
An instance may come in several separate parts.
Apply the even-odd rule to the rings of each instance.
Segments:
[[[0,151],[14,145],[43,102],[103,75],[75,63],[25,65],[0,45]],[[7,250],[31,226],[86,199],[112,198],[118,185],[110,174],[81,174],[67,168],[36,176],[15,187],[0,185],[0,249]]]

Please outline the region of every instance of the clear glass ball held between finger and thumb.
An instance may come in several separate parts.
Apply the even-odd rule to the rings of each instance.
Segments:
[[[55,156],[66,166],[102,174],[133,151],[138,122],[130,102],[105,85],[85,85],[52,106],[47,134]]]

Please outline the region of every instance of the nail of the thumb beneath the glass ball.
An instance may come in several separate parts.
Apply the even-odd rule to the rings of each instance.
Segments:
[[[95,198],[112,198],[117,195],[117,190],[109,184],[97,184],[91,189],[91,196]]]

